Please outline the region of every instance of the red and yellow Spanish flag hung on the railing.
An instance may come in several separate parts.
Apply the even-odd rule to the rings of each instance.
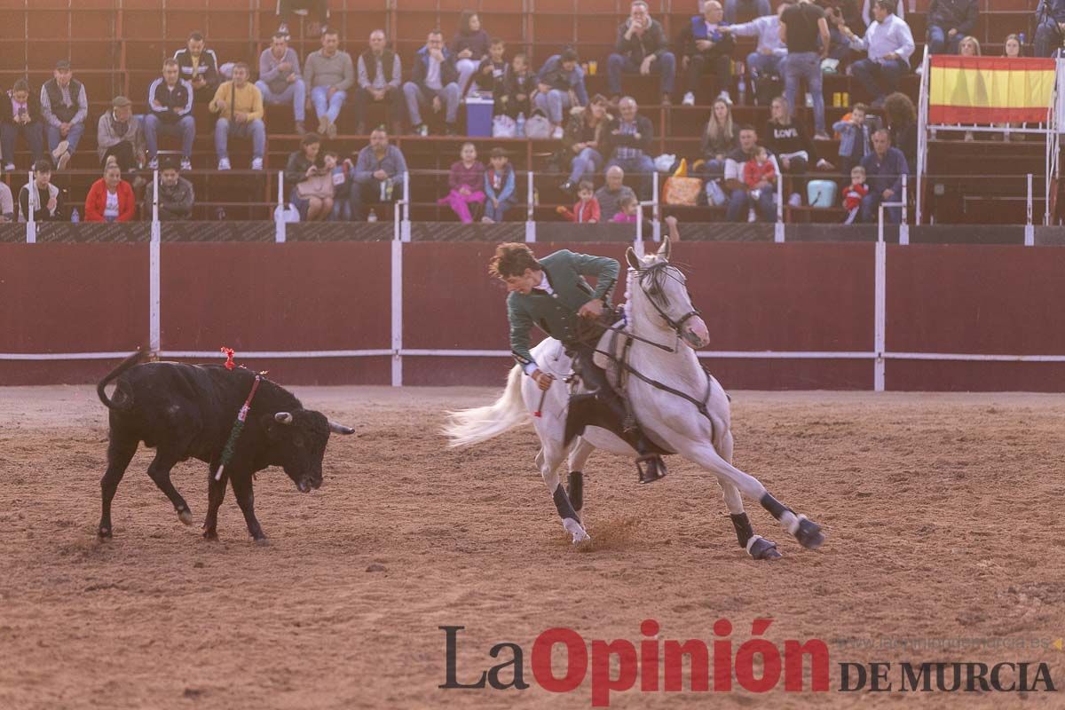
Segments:
[[[1039,123],[1047,120],[1054,60],[934,54],[932,123]]]

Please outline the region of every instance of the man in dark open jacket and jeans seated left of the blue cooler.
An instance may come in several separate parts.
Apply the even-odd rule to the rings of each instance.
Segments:
[[[455,68],[454,55],[444,47],[444,35],[440,30],[430,32],[425,47],[417,50],[410,79],[403,85],[403,93],[407,98],[411,130],[421,135],[429,134],[428,127],[422,121],[422,110],[431,105],[432,113],[444,111],[447,135],[456,135],[459,73]]]

